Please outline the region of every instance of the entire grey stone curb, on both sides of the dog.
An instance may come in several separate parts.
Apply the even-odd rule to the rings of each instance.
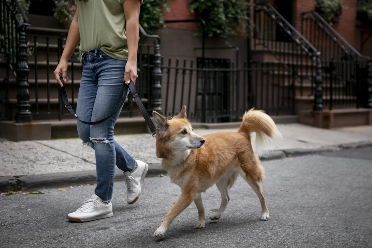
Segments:
[[[339,144],[332,146],[304,147],[302,149],[285,149],[268,152],[260,159],[262,161],[282,159],[303,155],[318,154],[323,152],[334,152],[342,149],[353,149],[372,146],[372,140],[356,143]],[[167,174],[160,164],[149,164],[146,177],[156,177],[159,174]],[[122,181],[124,175],[118,168],[115,170],[115,181]],[[28,175],[21,177],[4,176],[0,177],[0,192],[5,191],[31,191],[42,188],[58,188],[75,186],[81,184],[93,184],[96,182],[96,170],[59,172],[42,175]]]

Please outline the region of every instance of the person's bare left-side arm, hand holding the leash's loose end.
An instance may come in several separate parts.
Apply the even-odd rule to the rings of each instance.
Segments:
[[[57,68],[54,71],[55,80],[57,80],[57,83],[59,83],[62,87],[63,84],[60,80],[60,77],[62,75],[63,80],[65,82],[68,82],[67,78],[67,61],[71,57],[71,55],[74,53],[77,44],[80,42],[80,32],[79,32],[79,23],[77,20],[77,8],[75,11],[74,18],[71,22],[70,30],[68,31],[67,39],[65,48],[63,50],[63,53],[61,55],[60,63],[58,63]]]

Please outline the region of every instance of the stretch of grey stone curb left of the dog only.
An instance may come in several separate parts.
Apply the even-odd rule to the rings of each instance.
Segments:
[[[159,174],[167,174],[160,164],[149,164],[146,177],[156,177]],[[96,170],[59,172],[42,175],[27,175],[21,177],[0,177],[0,192],[6,191],[31,191],[42,188],[58,188],[76,186],[81,184],[96,183]],[[123,172],[115,169],[115,181],[124,179]]]

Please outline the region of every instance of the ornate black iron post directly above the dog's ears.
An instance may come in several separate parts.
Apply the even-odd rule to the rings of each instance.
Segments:
[[[159,114],[163,114],[163,109],[161,109],[161,73],[160,68],[160,45],[155,44],[154,47],[154,68],[152,76],[152,84],[151,84],[151,114],[153,111],[158,112]]]

